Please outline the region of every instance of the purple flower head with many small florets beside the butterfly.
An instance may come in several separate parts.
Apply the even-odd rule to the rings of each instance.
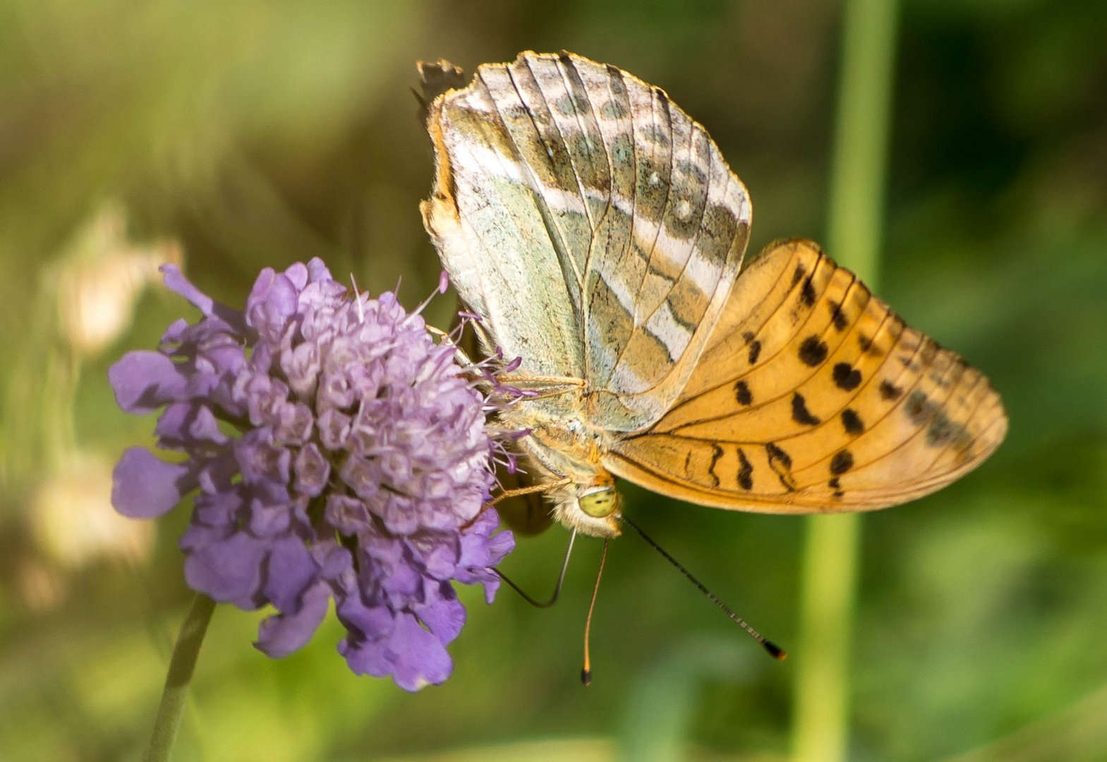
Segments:
[[[407,690],[444,681],[465,624],[452,583],[483,585],[490,603],[492,567],[515,546],[482,511],[496,403],[417,311],[351,297],[319,259],[263,270],[241,311],[162,270],[204,317],[108,379],[125,411],[162,411],[158,445],[186,457],[127,450],[116,509],[158,516],[195,491],[185,578],[244,609],[272,605],[257,642],[269,656],[303,646],[333,598],[353,671]]]

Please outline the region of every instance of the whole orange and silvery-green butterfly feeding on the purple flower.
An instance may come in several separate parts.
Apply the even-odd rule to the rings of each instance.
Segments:
[[[424,224],[554,519],[620,534],[614,477],[720,508],[870,511],[980,465],[987,379],[809,240],[743,265],[751,203],[660,87],[582,56],[484,64],[430,105]]]

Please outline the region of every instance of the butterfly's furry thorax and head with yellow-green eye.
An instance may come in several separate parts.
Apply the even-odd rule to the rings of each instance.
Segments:
[[[584,414],[567,415],[567,409],[583,413],[581,390],[525,400],[500,422],[529,431],[518,445],[536,481],[551,485],[545,495],[555,519],[592,537],[618,537],[619,495],[614,477],[600,464],[611,435]]]

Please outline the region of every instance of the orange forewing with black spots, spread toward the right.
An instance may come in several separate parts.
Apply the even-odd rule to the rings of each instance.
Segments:
[[[789,241],[743,271],[676,404],[604,464],[721,507],[865,511],[948,484],[1005,431],[979,371]]]

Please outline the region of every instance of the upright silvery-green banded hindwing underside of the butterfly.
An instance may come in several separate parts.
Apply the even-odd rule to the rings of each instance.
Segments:
[[[578,55],[485,64],[431,106],[424,219],[520,372],[581,378],[592,423],[637,431],[681,393],[741,265],[751,206],[658,87]]]

